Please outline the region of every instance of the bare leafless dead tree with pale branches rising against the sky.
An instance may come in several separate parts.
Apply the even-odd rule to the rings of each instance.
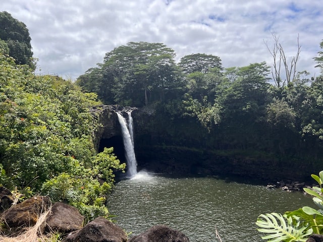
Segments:
[[[298,62],[298,56],[301,50],[301,45],[299,44],[299,34],[297,36],[297,53],[295,56],[293,56],[290,63],[288,62],[288,59],[282,44],[279,43],[279,37],[275,33],[273,33],[272,35],[274,38],[274,47],[272,50],[268,46],[267,41],[264,41],[268,51],[271,53],[271,55],[274,58],[274,64],[272,67],[272,76],[277,87],[282,87],[285,85],[285,83],[287,83],[287,86],[289,86],[297,78],[296,64]],[[283,65],[283,68],[285,69],[285,75],[286,75],[286,79],[284,81],[282,81],[282,78],[281,78],[282,65]]]

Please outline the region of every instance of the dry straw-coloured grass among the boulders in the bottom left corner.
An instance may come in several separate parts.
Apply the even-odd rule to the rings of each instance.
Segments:
[[[25,231],[19,233],[17,236],[8,237],[0,235],[0,241],[4,242],[48,242],[48,237],[42,234],[41,227],[46,222],[46,217],[51,212],[51,208],[48,211],[42,213],[34,226],[28,227]]]

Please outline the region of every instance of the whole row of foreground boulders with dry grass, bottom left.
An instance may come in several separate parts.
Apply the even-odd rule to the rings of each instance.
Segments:
[[[17,204],[13,194],[0,187],[1,241],[48,241],[53,233],[64,242],[189,242],[182,232],[166,225],[155,225],[139,235],[128,234],[104,217],[83,224],[84,216],[68,204],[51,204],[47,196],[34,196]]]

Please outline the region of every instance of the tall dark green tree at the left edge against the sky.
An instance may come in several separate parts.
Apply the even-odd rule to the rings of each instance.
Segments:
[[[0,39],[7,43],[9,55],[15,58],[16,64],[26,64],[35,69],[29,31],[23,22],[13,18],[6,11],[0,12]]]

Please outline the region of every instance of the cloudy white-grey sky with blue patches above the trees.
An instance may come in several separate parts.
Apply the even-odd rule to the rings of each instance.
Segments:
[[[192,53],[217,55],[224,68],[265,61],[279,37],[288,63],[301,52],[297,71],[318,76],[321,0],[7,0],[0,11],[26,24],[36,73],[76,80],[103,63],[105,53],[128,42],[164,43],[176,61]]]

